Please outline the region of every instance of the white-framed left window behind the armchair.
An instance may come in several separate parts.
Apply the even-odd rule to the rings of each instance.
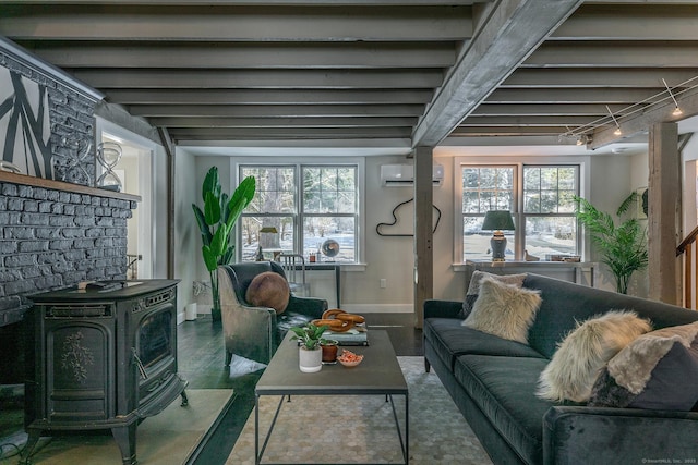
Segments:
[[[254,260],[261,246],[267,259],[279,252],[305,258],[321,252],[323,260],[359,261],[358,166],[241,164],[239,170],[240,179],[256,180],[241,218],[243,260]]]

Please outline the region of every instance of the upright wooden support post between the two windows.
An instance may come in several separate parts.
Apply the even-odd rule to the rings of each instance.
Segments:
[[[424,301],[434,294],[432,147],[414,149],[414,328],[424,323]]]

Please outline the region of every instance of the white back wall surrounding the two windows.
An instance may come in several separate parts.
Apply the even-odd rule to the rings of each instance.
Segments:
[[[181,155],[181,157],[180,157]],[[245,160],[249,161],[249,160]],[[465,273],[454,269],[454,161],[445,155],[434,158],[444,166],[444,181],[434,188],[434,205],[442,211],[438,229],[434,233],[434,297],[460,301],[465,295]],[[636,169],[636,162],[643,163]],[[194,280],[208,280],[208,273],[201,259],[201,238],[192,230],[192,198],[201,204],[201,183],[212,166],[218,167],[225,192],[230,192],[231,161],[226,157],[192,157],[178,149],[176,184],[176,273],[182,280],[182,298],[191,297],[189,290]],[[342,305],[349,311],[412,311],[413,309],[413,243],[411,237],[381,236],[376,225],[392,222],[392,211],[396,205],[412,197],[411,187],[384,187],[381,185],[381,164],[411,163],[405,157],[365,158],[365,264],[363,267],[346,267],[341,277]],[[599,208],[615,211],[631,188],[647,179],[646,157],[590,157],[590,199]],[[194,175],[192,175],[194,173]],[[646,183],[645,183],[646,185]],[[413,220],[413,207],[398,210],[399,221]],[[183,219],[182,219],[183,218]],[[385,230],[383,230],[385,232]],[[380,287],[381,279],[387,286]],[[334,303],[334,279],[332,272],[309,273],[313,294]],[[607,277],[602,277],[601,285],[614,289]],[[186,301],[189,302],[189,301]],[[186,303],[184,302],[184,304]],[[200,307],[205,311],[205,307]]]

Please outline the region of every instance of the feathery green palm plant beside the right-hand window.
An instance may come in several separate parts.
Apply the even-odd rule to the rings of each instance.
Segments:
[[[635,204],[636,197],[637,193],[633,193],[621,204],[616,211],[618,219]],[[575,203],[577,219],[599,248],[601,262],[611,269],[616,291],[627,294],[633,273],[645,269],[649,262],[646,228],[637,218],[616,225],[610,213],[600,211],[589,200],[576,196]]]

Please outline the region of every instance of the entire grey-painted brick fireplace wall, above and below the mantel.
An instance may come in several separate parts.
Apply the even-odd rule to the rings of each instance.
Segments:
[[[79,171],[91,175],[86,180],[69,172],[63,139],[95,140],[96,93],[21,50],[0,46],[0,66],[46,86],[53,167],[59,179],[73,183],[52,187],[0,179],[0,384],[7,384],[23,382],[26,296],[85,280],[125,279],[127,220],[137,204],[71,187],[94,183],[95,144],[80,162]]]

